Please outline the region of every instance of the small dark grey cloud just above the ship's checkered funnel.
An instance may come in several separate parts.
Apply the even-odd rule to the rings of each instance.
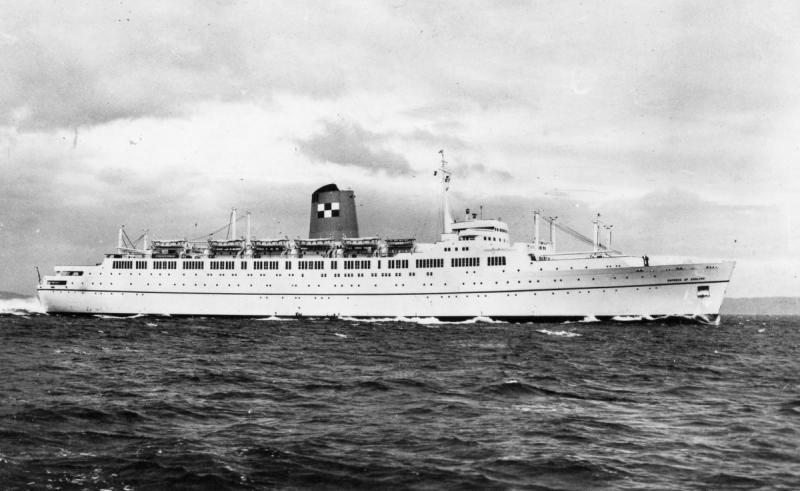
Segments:
[[[410,174],[411,166],[402,155],[383,148],[386,137],[356,124],[326,122],[322,132],[298,140],[302,152],[319,162],[360,167],[387,174]]]

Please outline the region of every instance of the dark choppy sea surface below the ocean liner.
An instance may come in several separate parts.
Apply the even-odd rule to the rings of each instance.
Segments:
[[[17,314],[3,489],[800,488],[800,317]]]

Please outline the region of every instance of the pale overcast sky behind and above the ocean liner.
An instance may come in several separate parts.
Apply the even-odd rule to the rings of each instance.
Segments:
[[[331,182],[363,235],[433,240],[444,149],[453,209],[514,240],[534,209],[587,235],[600,213],[626,253],[800,296],[797,2],[0,8],[0,291],[99,262],[122,224],[202,237],[236,207],[306,236]]]

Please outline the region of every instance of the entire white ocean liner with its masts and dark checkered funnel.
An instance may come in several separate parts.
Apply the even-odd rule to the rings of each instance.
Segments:
[[[511,243],[506,223],[469,210],[454,220],[442,153],[441,237],[362,237],[353,191],[311,195],[306,239],[236,234],[226,240],[130,241],[94,266],[59,266],[39,281],[49,313],[277,317],[475,317],[522,320],[691,316],[718,322],[733,262],[630,256],[611,248],[599,220],[585,237],[533,215],[533,241]],[[549,226],[545,240],[541,228]],[[558,233],[585,243],[556,249]],[[601,235],[605,235],[601,240]]]

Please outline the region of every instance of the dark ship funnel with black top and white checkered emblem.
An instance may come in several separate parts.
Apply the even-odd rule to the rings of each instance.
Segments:
[[[308,237],[334,240],[358,237],[356,200],[353,191],[340,191],[336,184],[322,186],[311,194],[311,226]]]

